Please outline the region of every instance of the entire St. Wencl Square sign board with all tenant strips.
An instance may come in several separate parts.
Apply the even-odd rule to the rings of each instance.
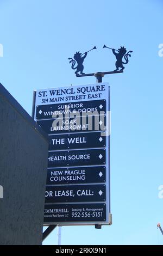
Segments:
[[[33,118],[49,137],[45,224],[110,223],[108,83],[36,90]]]

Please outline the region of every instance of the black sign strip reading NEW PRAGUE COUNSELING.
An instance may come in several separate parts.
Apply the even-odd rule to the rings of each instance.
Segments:
[[[51,168],[47,172],[47,185],[105,182],[105,166]]]

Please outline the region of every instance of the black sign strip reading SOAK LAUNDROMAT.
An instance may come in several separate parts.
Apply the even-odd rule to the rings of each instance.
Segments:
[[[42,129],[48,134],[65,133],[65,132],[86,132],[86,131],[105,131],[106,117],[87,116],[68,119],[51,119],[37,121]]]

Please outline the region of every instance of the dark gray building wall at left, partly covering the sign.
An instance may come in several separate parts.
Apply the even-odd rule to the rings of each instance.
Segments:
[[[0,84],[0,245],[41,245],[48,141]]]

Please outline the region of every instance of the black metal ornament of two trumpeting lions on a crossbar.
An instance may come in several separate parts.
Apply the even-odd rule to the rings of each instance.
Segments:
[[[74,54],[73,58],[68,58],[70,60],[71,63],[71,68],[73,70],[76,70],[74,73],[76,74],[77,77],[81,77],[81,76],[96,76],[96,77],[103,77],[106,74],[115,74],[115,73],[122,73],[124,70],[124,64],[128,64],[129,59],[128,57],[131,57],[131,52],[133,51],[128,51],[126,50],[126,48],[123,46],[121,46],[121,48],[118,48],[118,50],[114,49],[114,48],[110,48],[106,45],[103,46],[103,48],[108,48],[110,50],[112,50],[112,53],[115,55],[116,57],[116,69],[114,71],[108,71],[108,72],[97,72],[97,73],[91,73],[91,74],[85,74],[83,72],[84,70],[84,59],[87,56],[87,53],[97,49],[96,46],[94,46],[91,50],[85,52],[85,53],[80,53],[80,51],[76,52]],[[121,69],[120,69],[121,68]],[[120,70],[119,70],[120,69]],[[80,74],[79,74],[80,72]]]

